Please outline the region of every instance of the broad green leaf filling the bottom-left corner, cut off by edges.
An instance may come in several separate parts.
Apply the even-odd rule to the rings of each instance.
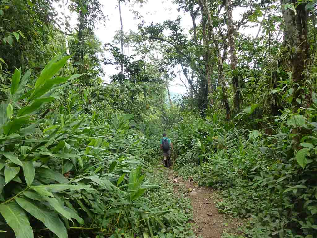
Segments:
[[[29,219],[16,202],[1,204],[0,213],[14,230],[16,238],[34,238]]]

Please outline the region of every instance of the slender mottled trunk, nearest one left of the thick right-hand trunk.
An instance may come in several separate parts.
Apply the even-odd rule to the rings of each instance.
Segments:
[[[231,0],[226,0],[226,10],[228,14],[228,39],[230,46],[230,60],[232,69],[232,85],[233,85],[233,108],[235,112],[239,112],[241,109],[241,90],[240,90],[240,79],[236,73],[237,59],[236,59],[236,45],[234,36],[234,27],[232,20],[232,6]]]

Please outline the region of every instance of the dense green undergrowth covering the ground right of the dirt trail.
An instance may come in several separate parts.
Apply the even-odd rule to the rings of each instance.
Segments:
[[[243,229],[245,237],[317,235],[313,176],[317,164],[315,149],[309,149],[309,154],[307,151],[315,148],[317,138],[315,133],[304,136],[301,147],[294,151],[292,122],[287,118],[292,116],[282,115],[284,123],[275,123],[279,133],[274,136],[262,136],[256,130],[226,130],[210,118],[204,123],[202,119],[184,119],[172,132],[177,135],[178,174],[219,189],[219,212],[248,219]],[[304,123],[309,127],[308,122]]]

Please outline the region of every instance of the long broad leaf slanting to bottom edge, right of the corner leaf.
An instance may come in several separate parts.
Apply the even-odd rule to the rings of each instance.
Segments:
[[[28,198],[18,197],[16,202],[29,214],[34,216],[39,221],[42,221],[44,225],[49,228],[57,237],[67,238],[67,231],[63,222],[59,219],[55,212],[52,212]]]

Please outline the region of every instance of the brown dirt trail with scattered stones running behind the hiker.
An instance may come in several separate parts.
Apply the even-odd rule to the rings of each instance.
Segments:
[[[223,232],[238,233],[237,228],[242,225],[242,222],[218,214],[218,209],[215,207],[217,194],[213,189],[199,187],[191,180],[184,181],[183,178],[177,177],[173,173],[172,168],[169,168],[168,171],[170,181],[175,184],[174,192],[185,191],[185,195],[191,199],[194,210],[194,218],[191,222],[196,224],[193,229],[197,237],[220,238]]]

